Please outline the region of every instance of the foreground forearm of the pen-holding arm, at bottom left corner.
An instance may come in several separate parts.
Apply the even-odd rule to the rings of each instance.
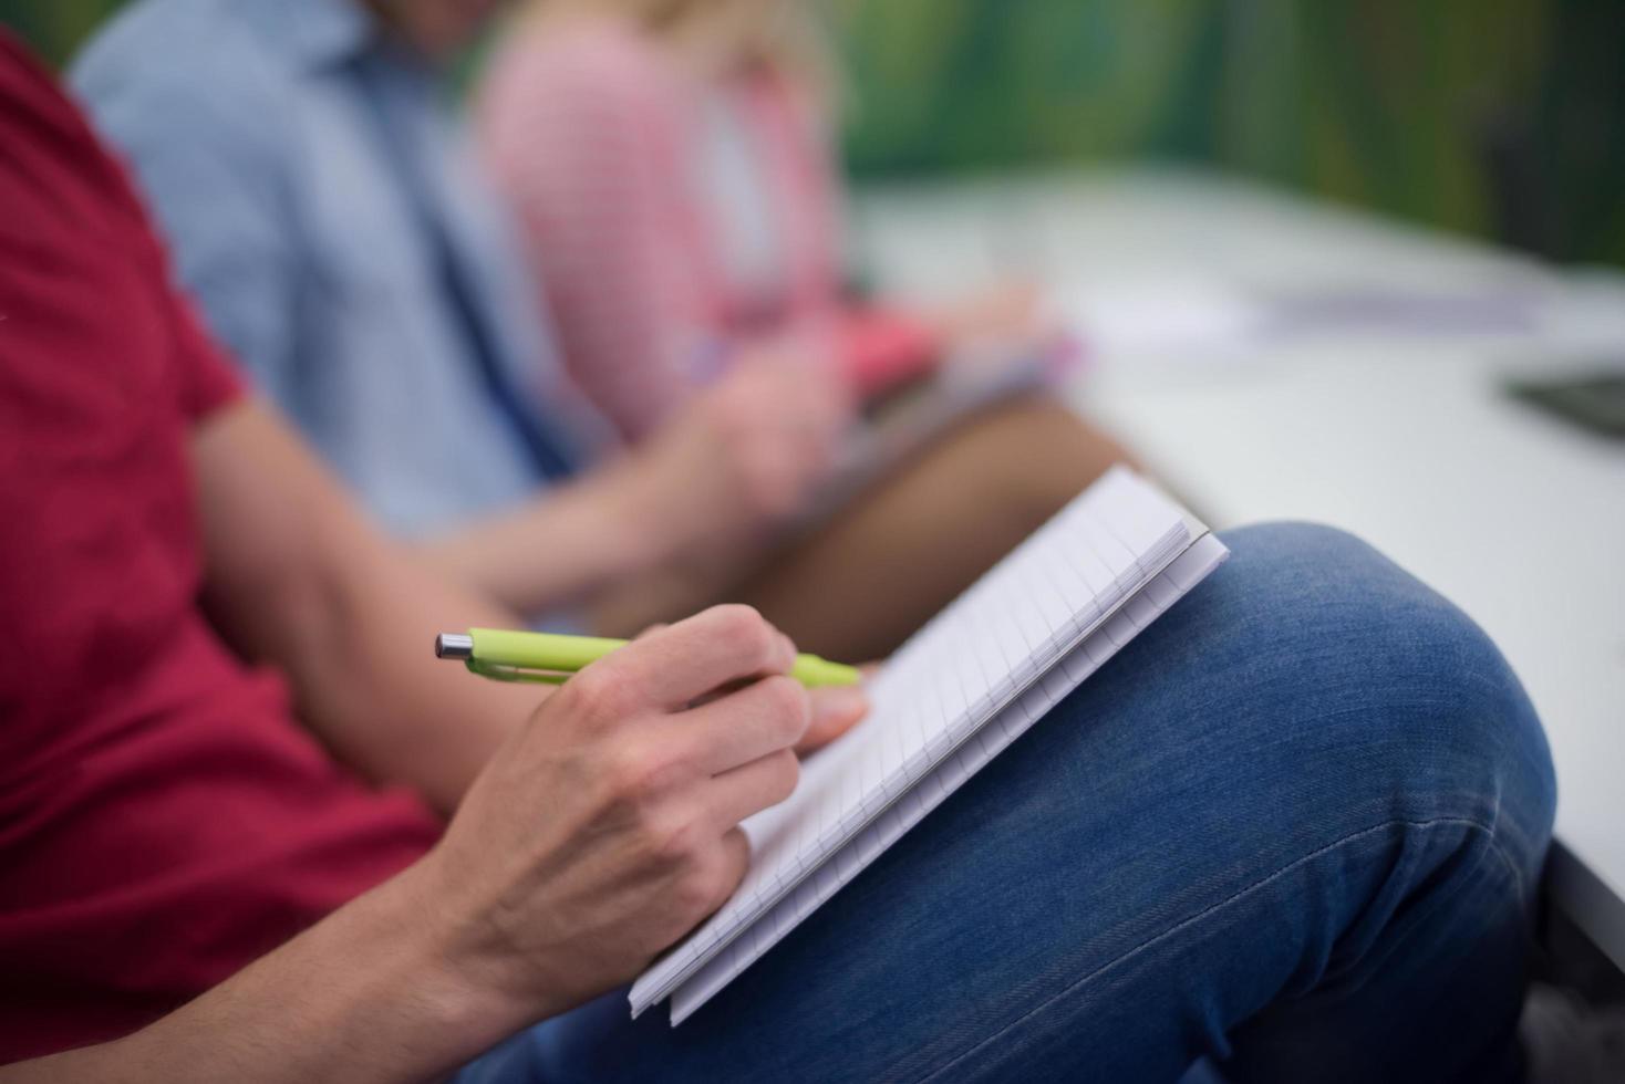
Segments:
[[[419,863],[156,1024],[0,1068],[0,1084],[384,1082],[455,1069],[530,1014],[455,970],[429,894]]]

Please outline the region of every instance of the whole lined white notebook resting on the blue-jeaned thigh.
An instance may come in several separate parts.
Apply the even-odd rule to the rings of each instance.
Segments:
[[[869,683],[873,709],[744,823],[733,897],[632,985],[681,1024],[895,844],[1228,550],[1124,467],[928,622]]]

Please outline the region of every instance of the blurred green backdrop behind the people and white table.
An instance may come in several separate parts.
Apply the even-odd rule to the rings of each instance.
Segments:
[[[0,23],[60,63],[119,3],[0,0]],[[1172,161],[1625,265],[1625,2],[832,6],[860,179]]]

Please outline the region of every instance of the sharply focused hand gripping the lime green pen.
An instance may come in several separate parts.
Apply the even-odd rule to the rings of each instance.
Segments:
[[[544,701],[414,870],[466,985],[552,1016],[720,907],[749,862],[739,821],[790,797],[793,750],[821,725],[793,662],[756,610],[715,607]],[[826,730],[864,711],[861,691],[842,693],[826,698]]]

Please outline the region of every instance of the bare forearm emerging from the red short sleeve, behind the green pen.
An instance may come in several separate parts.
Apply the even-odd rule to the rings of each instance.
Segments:
[[[453,808],[546,693],[436,662],[434,634],[517,618],[380,537],[258,404],[205,425],[193,458],[216,626],[288,673],[301,721],[343,761]]]

